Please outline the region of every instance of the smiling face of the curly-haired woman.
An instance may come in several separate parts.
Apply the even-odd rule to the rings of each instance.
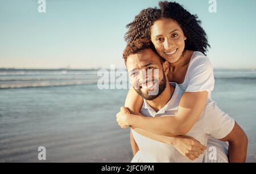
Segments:
[[[172,19],[156,20],[150,32],[158,54],[170,63],[177,62],[183,54],[187,39],[179,24]]]

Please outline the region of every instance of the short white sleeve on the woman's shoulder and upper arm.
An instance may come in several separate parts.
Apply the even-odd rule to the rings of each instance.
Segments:
[[[200,60],[196,60],[192,63],[189,68],[188,80],[188,87],[185,92],[213,91],[213,66],[207,57],[200,58]]]

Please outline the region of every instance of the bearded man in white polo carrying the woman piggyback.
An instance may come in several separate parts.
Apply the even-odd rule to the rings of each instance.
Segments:
[[[132,86],[144,99],[141,113],[149,117],[175,115],[184,91],[178,84],[168,82],[170,65],[155,52],[154,46],[145,40],[134,41],[127,46],[124,58]],[[148,70],[158,71],[158,74],[154,75],[152,72],[152,77],[149,77]],[[129,112],[126,108],[121,110]],[[118,117],[117,121],[122,124]],[[230,162],[245,162],[245,133],[214,101],[207,103],[199,120],[186,135],[197,139],[203,145],[207,145],[209,135],[224,142],[228,141]],[[130,140],[136,154],[132,162],[191,162],[172,143],[167,143],[165,136],[132,128]],[[201,148],[194,150],[197,159],[194,158],[193,162],[203,162],[204,156],[199,156],[203,150]]]

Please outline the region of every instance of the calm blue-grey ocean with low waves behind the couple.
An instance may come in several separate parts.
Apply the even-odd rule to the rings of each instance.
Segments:
[[[115,122],[128,90],[100,90],[97,72],[0,69],[0,162],[130,162],[129,129]],[[256,162],[256,71],[214,75],[212,97],[245,130]]]

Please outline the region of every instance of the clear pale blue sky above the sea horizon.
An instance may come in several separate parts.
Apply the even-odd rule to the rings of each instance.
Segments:
[[[123,36],[155,0],[0,0],[0,67],[90,69],[125,67]],[[214,68],[256,69],[256,1],[176,0],[197,14],[208,35]]]

